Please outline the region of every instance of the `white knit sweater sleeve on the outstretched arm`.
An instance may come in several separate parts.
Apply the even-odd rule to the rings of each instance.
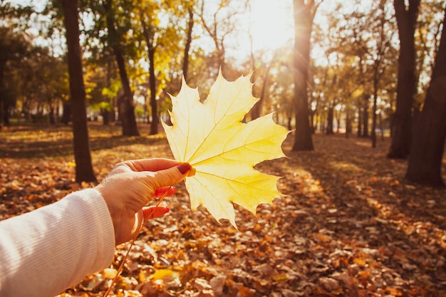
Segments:
[[[95,189],[0,222],[0,296],[52,297],[108,267],[115,232]]]

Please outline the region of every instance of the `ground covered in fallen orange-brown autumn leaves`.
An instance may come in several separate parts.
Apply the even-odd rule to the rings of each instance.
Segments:
[[[171,157],[164,135],[121,137],[90,125],[98,179],[116,162]],[[110,296],[446,296],[446,190],[403,179],[388,140],[314,135],[314,152],[258,165],[281,175],[287,197],[254,217],[237,207],[236,231],[205,209],[192,212],[182,184],[171,212],[147,223]],[[70,127],[17,126],[0,132],[0,219],[61,199],[79,186]],[[446,178],[446,160],[443,177]],[[155,203],[155,202],[154,202]],[[128,250],[109,269],[61,296],[103,296]]]

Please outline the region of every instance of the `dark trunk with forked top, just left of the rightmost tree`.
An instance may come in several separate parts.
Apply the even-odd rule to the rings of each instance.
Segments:
[[[398,85],[396,110],[392,119],[392,142],[389,158],[405,159],[410,152],[412,131],[412,105],[416,91],[415,80],[415,24],[420,0],[395,0],[395,16],[400,36],[400,56],[398,57]]]

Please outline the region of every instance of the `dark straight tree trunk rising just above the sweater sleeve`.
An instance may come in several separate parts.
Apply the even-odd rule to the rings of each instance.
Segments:
[[[82,53],[79,44],[78,1],[63,0],[63,16],[68,48],[68,73],[73,114],[73,147],[76,162],[76,182],[96,182],[91,165],[88,140],[85,87],[82,73]]]

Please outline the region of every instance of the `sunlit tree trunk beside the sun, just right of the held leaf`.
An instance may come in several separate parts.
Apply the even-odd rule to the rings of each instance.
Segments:
[[[313,150],[308,108],[308,65],[314,1],[294,0],[294,113],[296,131],[293,151]]]

